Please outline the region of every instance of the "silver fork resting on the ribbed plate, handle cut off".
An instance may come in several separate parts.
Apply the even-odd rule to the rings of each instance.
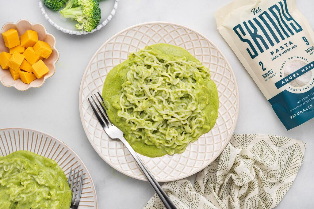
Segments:
[[[77,209],[78,208],[78,204],[79,204],[79,201],[81,199],[81,195],[82,195],[82,186],[83,186],[83,175],[84,175],[84,172],[83,170],[81,171],[81,179],[79,180],[78,179],[78,174],[80,173],[79,170],[77,172],[77,175],[76,175],[76,178],[74,177],[75,176],[75,170],[74,169],[74,172],[73,172],[73,176],[72,176],[72,184],[71,184],[71,192],[73,192],[73,195],[72,195],[72,201],[71,201],[71,206],[70,208],[71,209]],[[68,184],[70,186],[70,182],[71,182],[71,175],[72,175],[72,168],[70,169],[70,173],[69,173],[69,177],[68,177]],[[74,185],[74,181],[76,180],[76,186],[75,186],[75,189],[73,191],[73,185]],[[79,182],[79,187],[78,187],[78,181]],[[76,194],[77,192],[77,194]],[[76,199],[76,201],[74,202],[74,200]]]

